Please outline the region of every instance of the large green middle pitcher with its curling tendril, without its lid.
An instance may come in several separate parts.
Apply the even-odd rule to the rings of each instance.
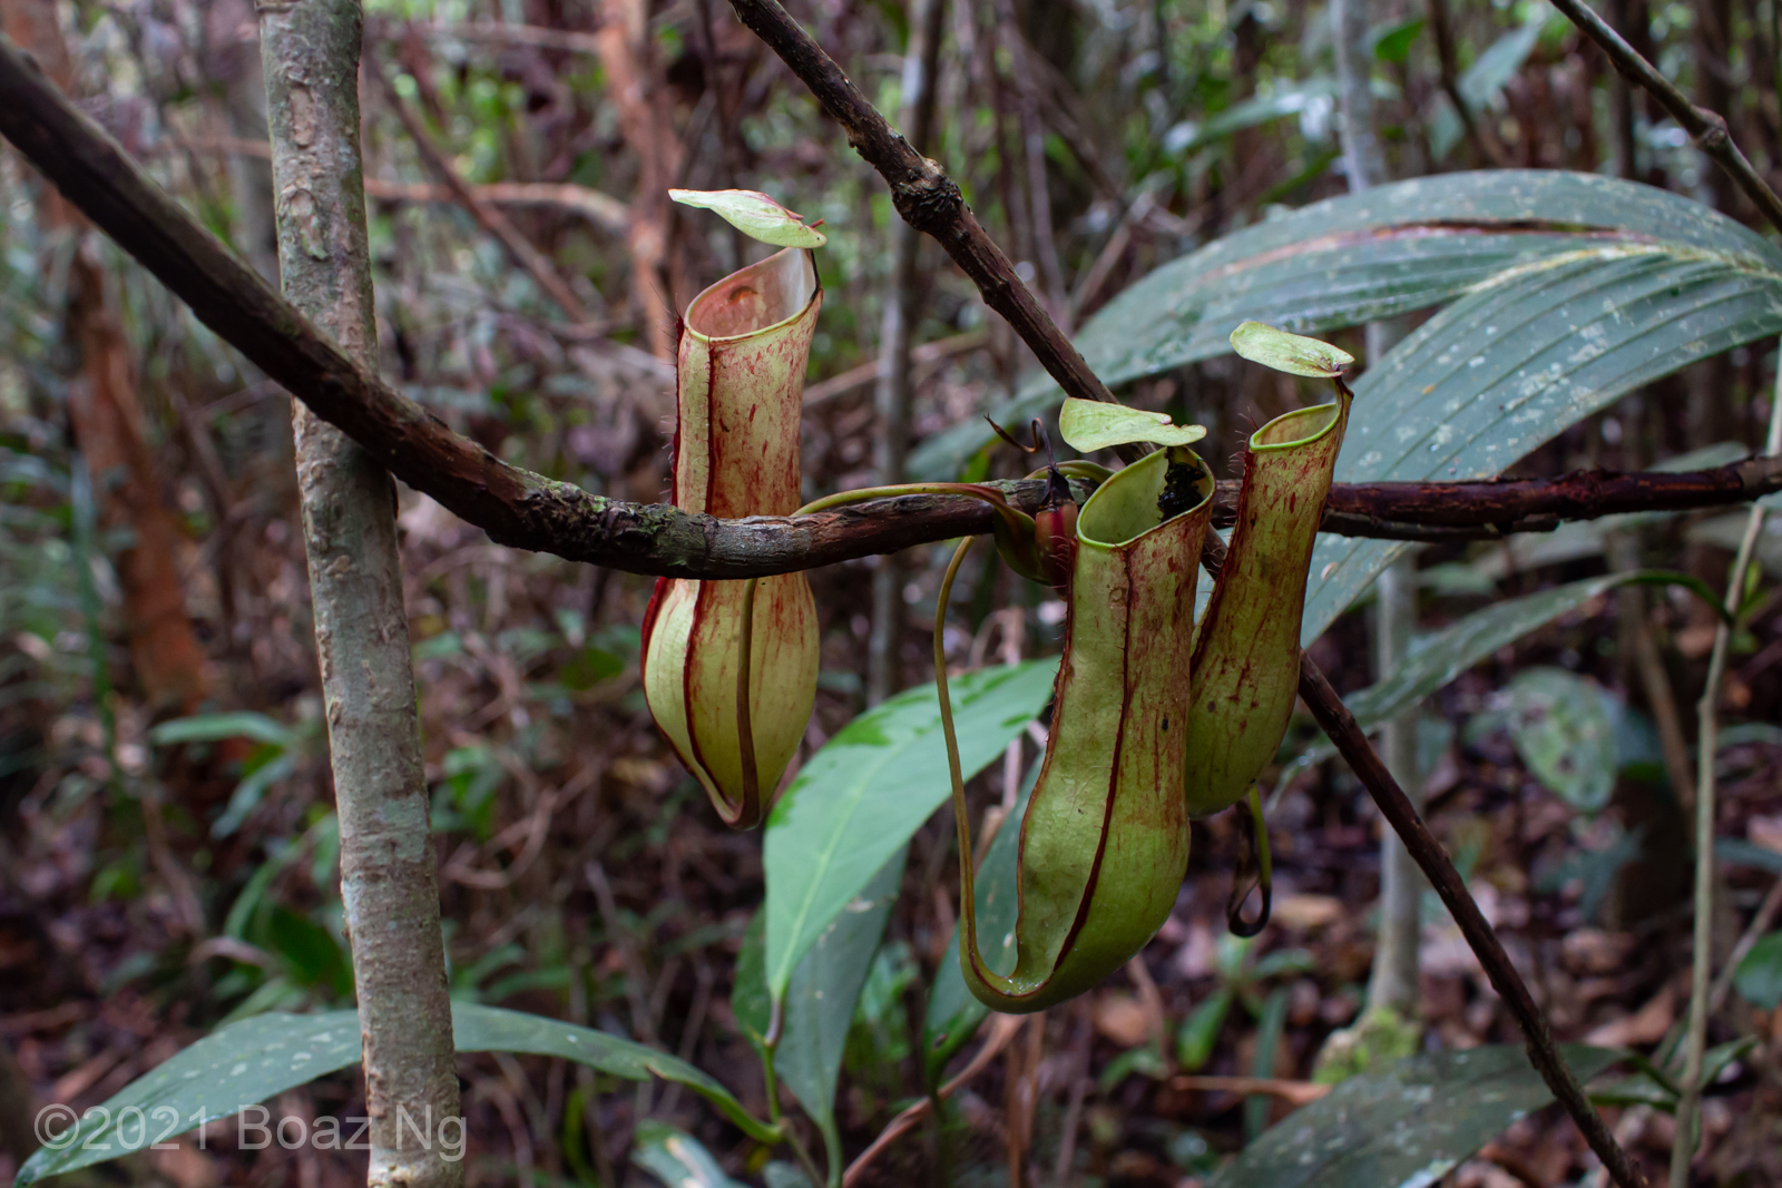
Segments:
[[[1165,518],[1160,506],[1178,502],[1189,509]],[[1035,1012],[1082,994],[1144,948],[1176,901],[1189,862],[1178,793],[1192,650],[1183,616],[1210,517],[1212,479],[1176,447],[1117,472],[1076,520],[1051,734],[1021,819],[1009,976],[978,948],[971,825],[943,718],[960,839],[960,972],[993,1010]],[[941,614],[962,556],[948,568]],[[944,654],[936,670],[944,707]]]

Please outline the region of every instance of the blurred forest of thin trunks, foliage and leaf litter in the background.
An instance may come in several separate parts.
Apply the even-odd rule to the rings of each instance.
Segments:
[[[1365,16],[1358,61],[1383,178],[1565,167],[1757,224],[1684,132],[1541,0],[1349,4]],[[1782,0],[1604,11],[1782,180]],[[253,5],[0,0],[0,12],[130,153],[276,271]],[[912,11],[809,0],[795,14],[880,109],[900,110]],[[1066,328],[1165,260],[1349,189],[1331,5],[1319,0],[946,0],[939,28],[925,151]],[[900,285],[898,219],[727,5],[372,0],[362,96],[381,367],[401,390],[515,463],[665,499],[675,312],[764,255],[672,207],[666,189],[759,189],[829,233],[807,493],[877,479],[887,427],[875,360]],[[98,1103],[221,1021],[349,1005],[353,981],[289,397],[11,150],[0,194],[5,1181],[36,1147],[36,1104]],[[1032,367],[934,244],[920,246],[902,301],[914,385],[893,433],[920,445]],[[1335,340],[1367,362],[1360,330]],[[1741,458],[1762,440],[1773,374],[1766,346],[1696,363],[1515,474]],[[1206,424],[1221,477],[1237,477],[1231,454],[1251,426],[1306,403],[1230,358],[1126,395]],[[985,451],[968,468],[1012,477],[1025,461]],[[1743,513],[1711,511],[1433,547],[1418,559],[1417,629],[1636,563],[1723,588],[1741,525]],[[661,1046],[764,1113],[729,1006],[763,894],[759,839],[718,825],[643,707],[650,581],[492,545],[406,490],[401,533],[454,994]],[[1782,871],[1782,538],[1759,556],[1759,606],[1734,639],[1723,702],[1720,960],[1773,926]],[[805,753],[870,696],[930,679],[941,565],[943,547],[912,550],[877,579],[900,616],[879,634],[896,648],[877,664],[882,566],[811,575],[823,675]],[[996,566],[966,582],[948,639],[957,664],[1057,648],[1051,593]],[[1677,707],[1702,691],[1713,632],[1682,595],[1607,593],[1424,705],[1431,825],[1565,1040],[1650,1049],[1686,1008],[1689,846],[1670,773],[1689,766],[1679,748],[1693,721]],[[1344,691],[1372,684],[1369,611],[1344,616],[1313,655]],[[1655,725],[1666,714],[1684,736]],[[1035,746],[1014,752],[973,784],[984,805],[1005,803]],[[950,960],[957,901],[943,818],[912,841],[855,1012],[839,1104],[850,1152],[921,1094],[921,987]],[[1196,823],[1176,914],[1128,974],[1028,1024],[862,1183],[1005,1184],[1014,1168],[1019,1183],[1183,1188],[1315,1095],[1320,1049],[1363,1003],[1381,826],[1347,768],[1322,762],[1287,773],[1272,828],[1274,923],[1258,939],[1224,926],[1231,814]],[[1782,1179],[1782,951],[1757,955],[1770,964],[1739,965],[1714,1021],[1716,1040],[1757,1046],[1704,1106],[1702,1183]],[[1433,899],[1418,1010],[1427,1047],[1516,1042]],[[463,1056],[460,1072],[474,1184],[652,1183],[629,1163],[647,1119],[699,1136],[731,1176],[754,1177],[764,1160],[675,1088],[504,1054]],[[1196,1076],[1260,1078],[1267,1092]],[[360,1094],[342,1072],[276,1108],[349,1115]],[[1670,1126],[1645,1111],[1620,1133],[1657,1170]],[[351,1154],[235,1151],[230,1135],[205,1151],[187,1136],[109,1174],[178,1188],[364,1176]],[[1570,1122],[1547,1110],[1445,1183],[1547,1186],[1588,1167]]]

